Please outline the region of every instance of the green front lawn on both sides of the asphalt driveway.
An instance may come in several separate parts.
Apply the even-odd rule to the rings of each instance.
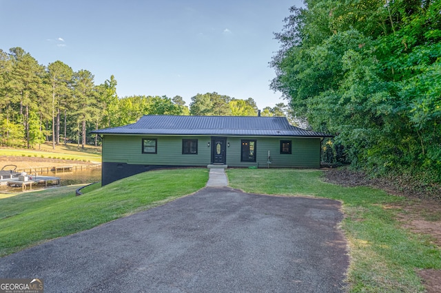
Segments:
[[[342,202],[341,228],[349,242],[349,292],[424,292],[416,274],[441,269],[441,252],[426,235],[401,227],[398,208],[407,200],[368,187],[342,187],[322,181],[321,171],[227,169],[229,185],[249,193],[326,197]],[[77,186],[51,188],[0,199],[0,256],[48,239],[87,230],[146,210],[205,186],[206,169],[141,173],[83,195]]]

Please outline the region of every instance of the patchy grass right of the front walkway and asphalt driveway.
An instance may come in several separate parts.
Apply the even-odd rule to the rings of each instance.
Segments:
[[[401,227],[406,200],[369,187],[342,187],[322,181],[321,171],[228,169],[229,185],[249,193],[326,197],[342,202],[342,230],[349,241],[350,292],[424,292],[416,270],[441,269],[441,251],[426,235]]]

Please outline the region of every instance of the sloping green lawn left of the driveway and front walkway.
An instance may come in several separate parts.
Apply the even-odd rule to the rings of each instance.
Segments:
[[[207,180],[206,169],[151,171],[79,197],[67,186],[0,199],[0,257],[194,193]]]

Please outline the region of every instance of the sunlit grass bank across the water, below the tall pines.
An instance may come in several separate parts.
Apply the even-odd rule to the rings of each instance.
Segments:
[[[52,144],[45,143],[40,145],[40,149],[1,148],[0,155],[101,162],[101,147],[87,146],[85,149],[78,149],[76,144],[60,144],[52,149]]]

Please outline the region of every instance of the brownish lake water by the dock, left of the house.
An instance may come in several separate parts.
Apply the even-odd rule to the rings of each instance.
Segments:
[[[57,172],[49,171],[38,173],[39,176],[52,176],[61,178],[61,186],[76,185],[76,184],[89,184],[93,182],[101,182],[101,169],[89,169],[72,172]],[[58,185],[59,186],[59,185]],[[49,187],[49,186],[48,186]],[[50,186],[54,187],[54,186]],[[43,189],[44,186],[32,186],[32,190]],[[9,187],[6,185],[0,186],[0,193],[19,193],[20,187]]]

